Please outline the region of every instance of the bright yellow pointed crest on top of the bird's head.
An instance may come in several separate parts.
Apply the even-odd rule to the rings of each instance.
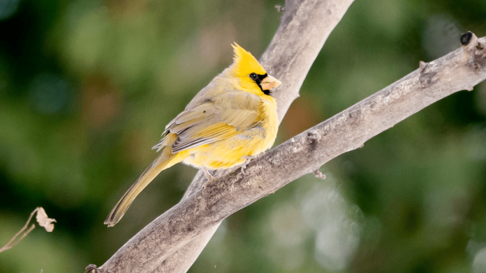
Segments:
[[[258,75],[265,75],[267,72],[260,63],[251,55],[240,47],[236,42],[233,46],[233,69],[238,77],[248,77],[251,73]]]

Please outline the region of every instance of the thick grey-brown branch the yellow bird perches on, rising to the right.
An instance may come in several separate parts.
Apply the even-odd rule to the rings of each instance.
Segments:
[[[202,187],[155,219],[119,249],[103,272],[149,272],[193,237],[230,214],[359,148],[429,104],[486,78],[486,38],[462,36],[462,48],[420,68],[270,150],[247,166]]]

